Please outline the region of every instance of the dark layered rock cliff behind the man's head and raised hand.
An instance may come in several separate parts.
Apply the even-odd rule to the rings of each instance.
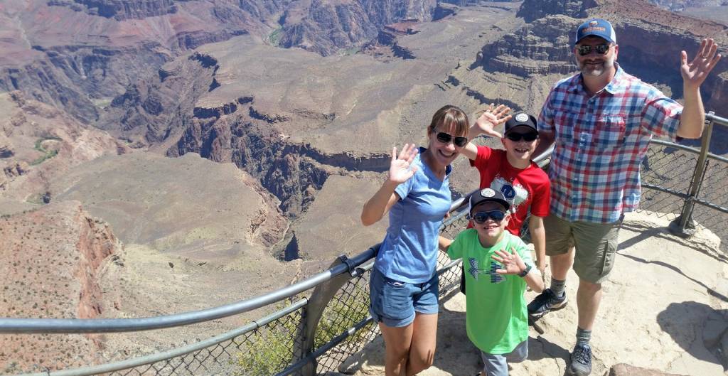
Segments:
[[[471,68],[531,78],[574,72],[571,49],[577,25],[585,17],[604,17],[612,21],[617,33],[617,61],[622,68],[679,98],[680,52],[685,50],[692,58],[704,37],[716,39],[721,46],[728,44],[724,25],[676,15],[641,1],[554,0],[545,6],[543,1],[526,0],[518,15],[531,23],[486,44]],[[673,63],[665,63],[670,61]],[[706,108],[718,113],[727,108],[727,83],[728,61],[723,59],[703,84]]]

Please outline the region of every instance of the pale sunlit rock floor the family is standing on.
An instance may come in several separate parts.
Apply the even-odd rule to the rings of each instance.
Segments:
[[[720,239],[705,228],[691,239],[672,235],[667,230],[672,219],[645,211],[625,216],[593,329],[592,375],[726,375],[728,257],[719,250]],[[529,359],[514,364],[510,375],[565,375],[575,342],[577,281],[570,271],[569,303],[539,321],[545,334],[531,328]],[[535,295],[527,292],[526,300]],[[435,362],[419,375],[475,375],[482,363],[465,332],[465,296],[455,289],[440,302]],[[610,374],[620,363],[660,372]],[[384,375],[381,336],[347,359],[339,372],[331,375]]]

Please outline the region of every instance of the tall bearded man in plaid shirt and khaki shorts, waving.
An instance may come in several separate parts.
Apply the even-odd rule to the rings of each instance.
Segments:
[[[573,51],[581,73],[555,84],[539,116],[535,155],[555,142],[550,215],[544,220],[552,279],[528,307],[539,317],[566,305],[573,252],[579,276],[577,344],[568,366],[573,375],[591,372],[589,340],[601,283],[614,265],[622,213],[639,203],[639,165],[649,140],[652,135],[700,137],[705,122],[700,84],[721,58],[717,48],[712,39],[703,39],[690,62],[681,52],[682,106],[620,68],[609,22],[593,19],[577,28]]]

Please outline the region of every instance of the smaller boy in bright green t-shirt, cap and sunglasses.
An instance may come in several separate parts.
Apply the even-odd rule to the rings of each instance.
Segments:
[[[439,247],[451,259],[463,259],[467,337],[481,351],[484,376],[507,376],[507,362],[529,355],[529,320],[523,292],[544,288],[526,244],[508,231],[510,204],[502,193],[485,188],[470,196],[472,228],[454,241],[443,236]]]

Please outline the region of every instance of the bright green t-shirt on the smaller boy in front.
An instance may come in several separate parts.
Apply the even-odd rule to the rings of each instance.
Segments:
[[[496,273],[502,265],[491,258],[497,249],[510,252],[511,247],[526,265],[534,267],[529,248],[508,231],[493,247],[483,248],[478,232],[470,228],[459,233],[448,248],[450,258],[462,258],[465,266],[467,337],[486,353],[510,353],[529,337],[523,298],[526,281],[516,275]]]

